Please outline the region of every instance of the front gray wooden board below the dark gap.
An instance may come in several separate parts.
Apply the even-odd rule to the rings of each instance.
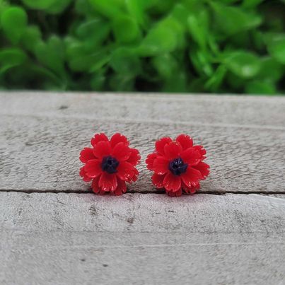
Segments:
[[[0,193],[0,284],[284,284],[285,200]]]

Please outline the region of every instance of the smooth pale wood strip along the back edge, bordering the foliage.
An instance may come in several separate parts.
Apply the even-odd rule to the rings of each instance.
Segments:
[[[241,95],[0,92],[4,115],[285,127],[285,98]]]

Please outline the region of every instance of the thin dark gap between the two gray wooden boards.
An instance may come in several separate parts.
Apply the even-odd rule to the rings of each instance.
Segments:
[[[19,193],[27,193],[27,194],[32,194],[32,193],[74,193],[74,194],[91,194],[93,193],[92,190],[88,191],[82,191],[82,190],[29,190],[29,189],[24,189],[24,190],[14,190],[14,189],[6,189],[2,190],[0,189],[0,192],[19,192]],[[163,190],[147,190],[144,192],[140,191],[128,191],[127,194],[165,194],[165,191]],[[196,194],[210,194],[210,195],[224,195],[224,194],[264,194],[264,195],[285,195],[285,192],[282,191],[248,191],[248,192],[243,192],[243,191],[202,191],[202,192],[197,192]]]

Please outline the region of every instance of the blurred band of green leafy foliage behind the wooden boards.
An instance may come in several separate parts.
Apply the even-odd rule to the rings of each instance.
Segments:
[[[0,0],[0,88],[276,94],[282,0]]]

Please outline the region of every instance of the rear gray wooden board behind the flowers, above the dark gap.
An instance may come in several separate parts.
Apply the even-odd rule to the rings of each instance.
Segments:
[[[0,93],[0,190],[89,191],[78,154],[95,132],[141,151],[131,192],[151,192],[144,160],[161,136],[190,134],[208,151],[201,192],[285,192],[285,98]]]

